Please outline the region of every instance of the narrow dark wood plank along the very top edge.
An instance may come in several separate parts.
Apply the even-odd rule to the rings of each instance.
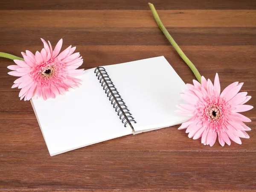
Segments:
[[[148,10],[148,0],[8,0],[0,1],[0,10]],[[253,0],[157,0],[158,10],[168,9],[256,9]]]

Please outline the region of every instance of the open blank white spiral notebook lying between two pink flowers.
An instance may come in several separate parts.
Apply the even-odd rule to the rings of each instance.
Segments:
[[[161,57],[85,70],[82,85],[55,99],[31,99],[51,156],[116,137],[180,124],[186,88]]]

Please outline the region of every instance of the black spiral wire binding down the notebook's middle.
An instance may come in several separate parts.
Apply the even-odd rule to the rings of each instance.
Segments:
[[[107,94],[109,101],[111,101],[111,105],[113,105],[119,119],[125,124],[125,127],[128,124],[134,131],[131,122],[137,122],[134,120],[134,117],[117,91],[105,68],[96,67],[94,73],[96,73],[96,77],[98,77],[99,83],[103,87],[103,90],[105,90],[105,93]]]

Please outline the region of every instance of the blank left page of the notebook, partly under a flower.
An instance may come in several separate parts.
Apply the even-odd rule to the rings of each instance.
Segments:
[[[82,85],[55,99],[32,99],[50,155],[132,134],[120,122],[94,69],[79,77]]]

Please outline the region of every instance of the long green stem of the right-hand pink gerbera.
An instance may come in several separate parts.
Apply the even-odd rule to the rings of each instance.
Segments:
[[[172,46],[175,48],[175,50],[178,52],[178,54],[180,55],[180,57],[186,62],[186,64],[190,67],[190,69],[192,70],[192,72],[195,74],[196,79],[198,79],[198,81],[201,83],[201,75],[198,72],[197,68],[195,67],[195,65],[189,60],[189,58],[187,58],[187,56],[184,54],[184,52],[180,49],[180,47],[177,45],[177,43],[174,41],[174,39],[172,38],[172,36],[169,34],[169,32],[166,30],[166,28],[163,26],[162,21],[160,20],[156,9],[154,8],[154,5],[152,3],[148,3],[154,18],[158,24],[158,26],[160,27],[160,29],[162,30],[163,34],[166,36],[166,38],[170,41],[170,43],[172,44]]]

